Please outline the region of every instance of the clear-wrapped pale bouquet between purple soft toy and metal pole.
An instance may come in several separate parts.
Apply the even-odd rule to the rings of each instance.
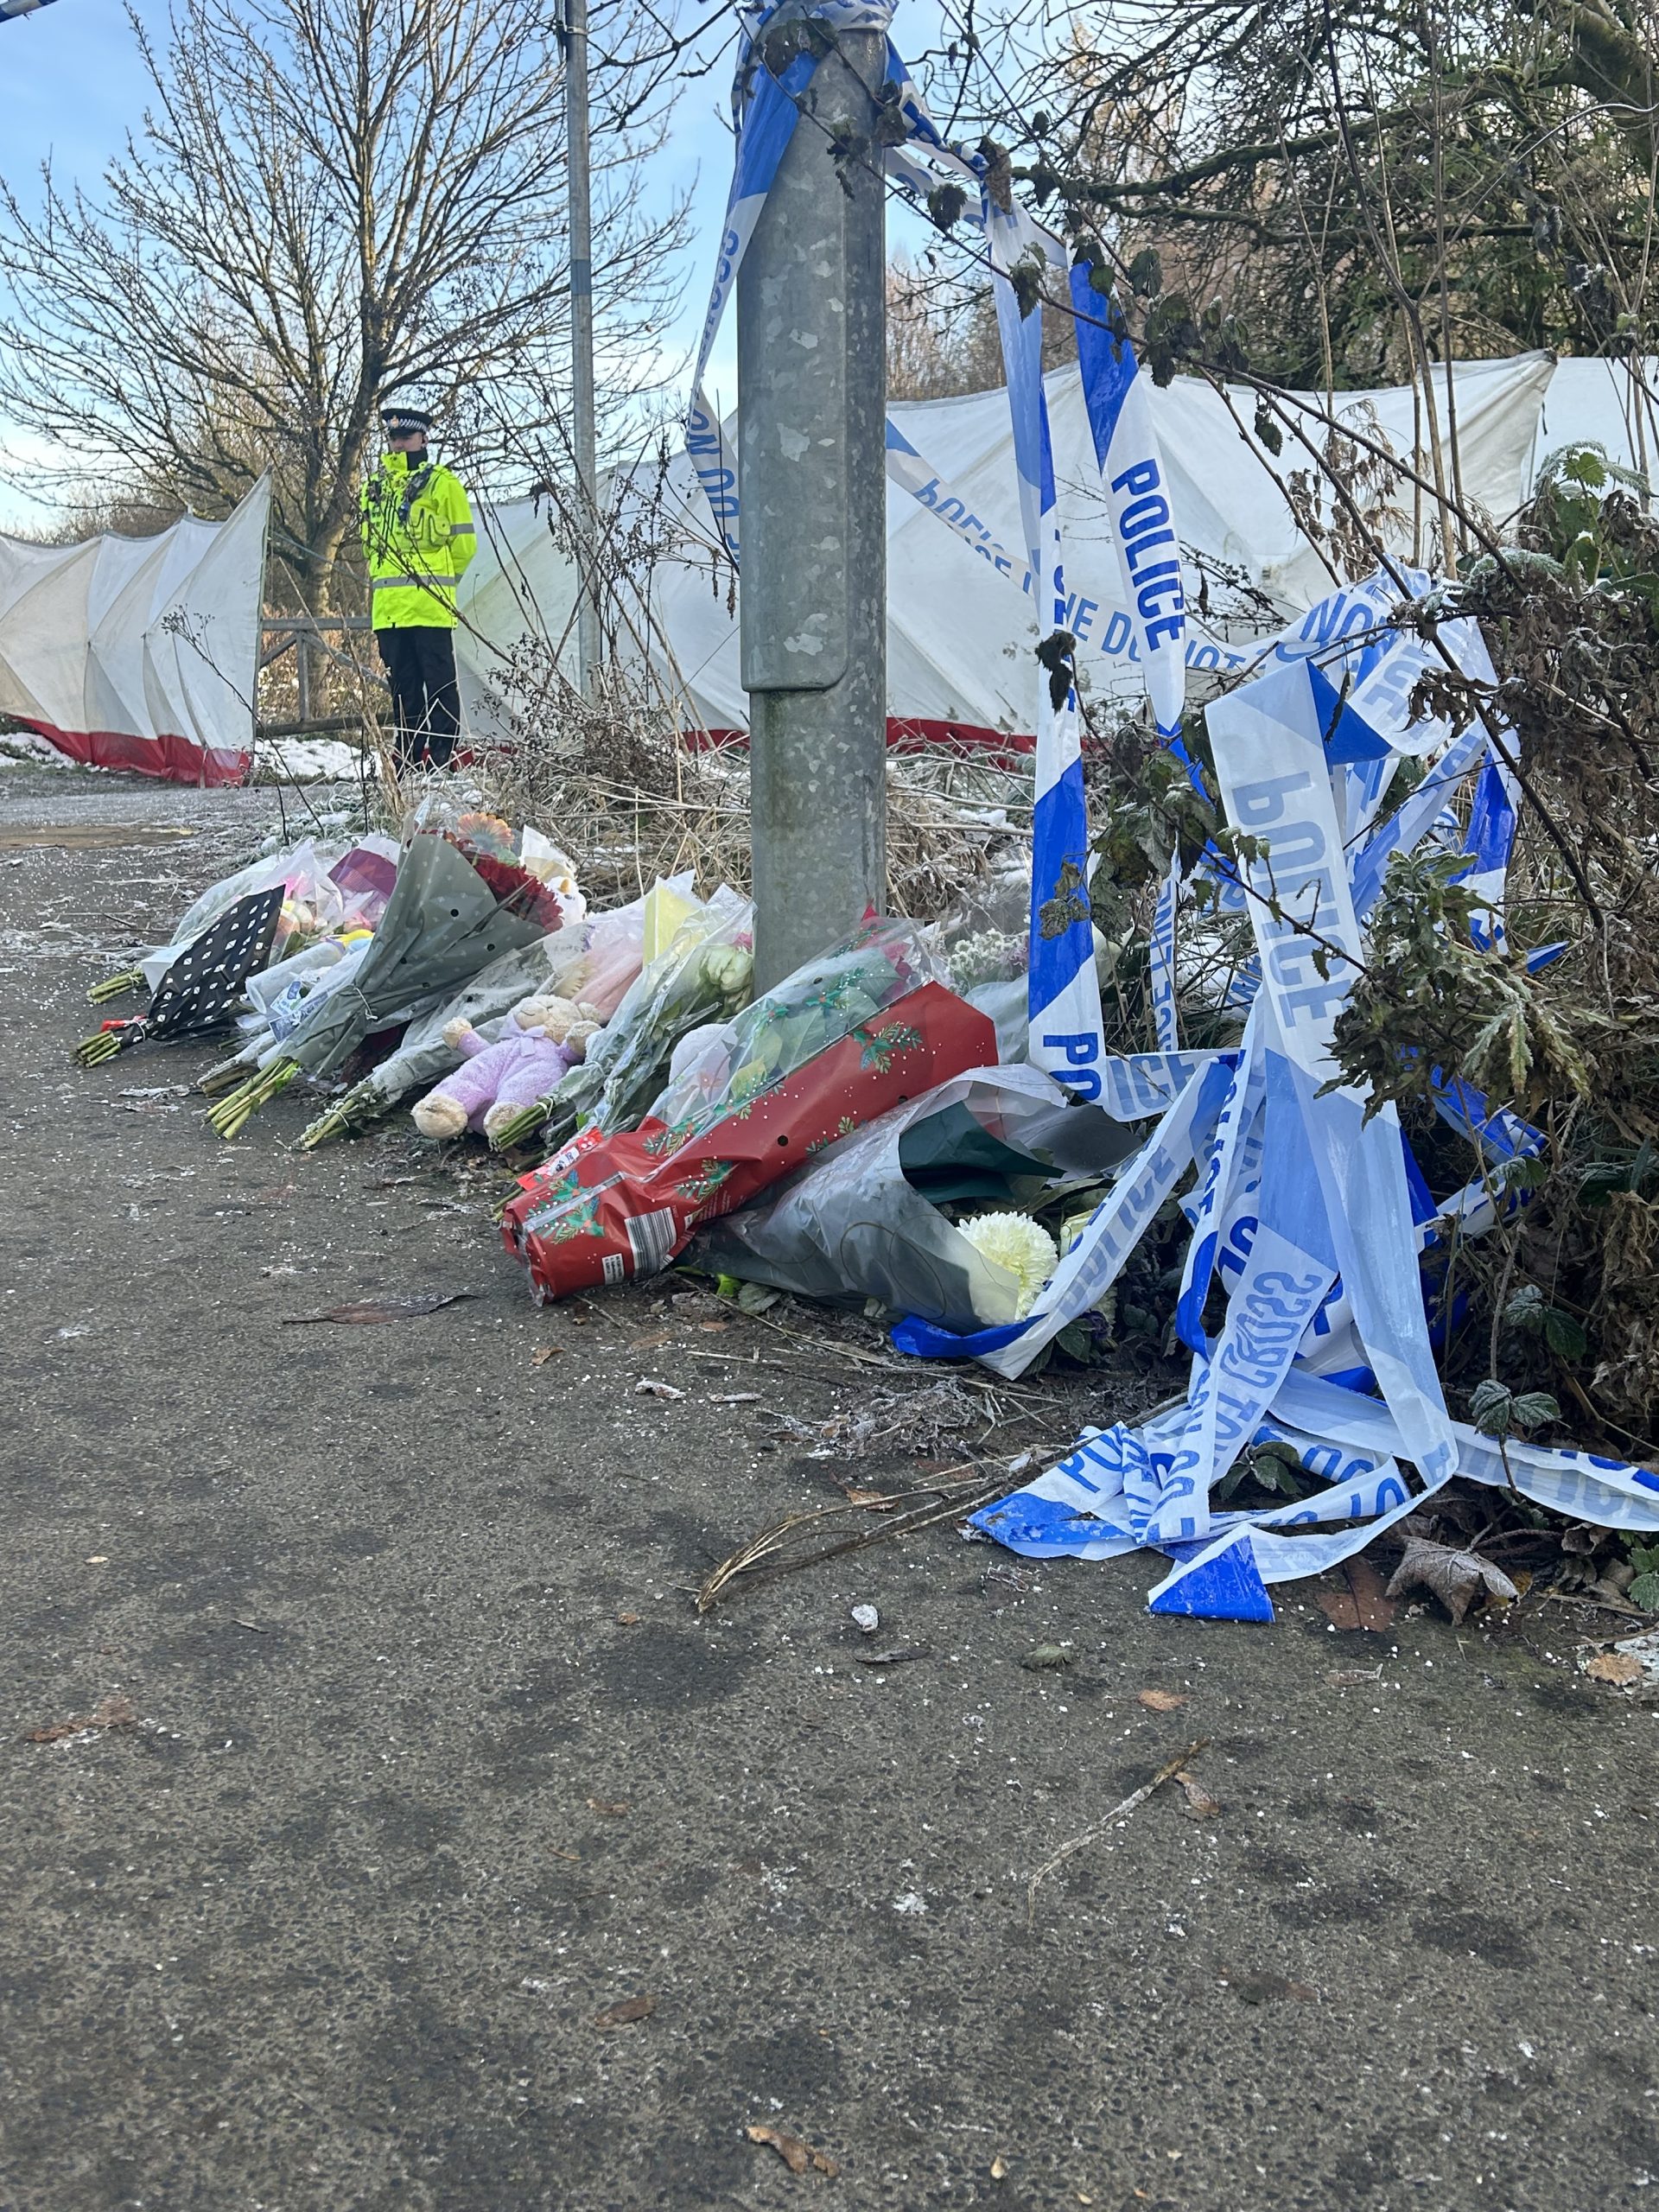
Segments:
[[[538,1135],[544,1144],[562,1144],[577,1126],[633,1128],[661,1091],[681,1037],[728,1020],[748,1000],[750,927],[750,902],[726,887],[692,909],[668,951],[641,971],[604,1033],[588,1044],[586,1060],[555,1091],[504,1121],[491,1144],[507,1152]]]

